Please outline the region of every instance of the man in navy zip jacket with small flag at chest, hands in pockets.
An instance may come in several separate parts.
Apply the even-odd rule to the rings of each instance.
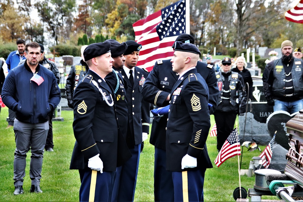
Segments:
[[[30,191],[41,193],[40,179],[45,141],[48,133],[48,114],[60,102],[60,89],[52,71],[39,65],[41,48],[30,42],[25,46],[26,62],[8,73],[2,88],[2,101],[16,112],[14,122],[14,194],[23,194],[26,153],[31,149],[29,176]]]

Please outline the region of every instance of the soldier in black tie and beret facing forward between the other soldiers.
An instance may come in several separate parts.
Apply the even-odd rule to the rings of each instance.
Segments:
[[[140,158],[141,143],[149,133],[149,103],[142,100],[142,88],[148,72],[137,67],[139,51],[142,45],[135,41],[126,41],[127,49],[124,52],[125,65],[121,70],[128,88],[126,98],[128,103],[128,147],[132,153],[129,159],[120,169],[117,168],[117,176],[113,191],[112,201],[133,201],[135,196],[136,181]],[[116,196],[116,198],[115,198]]]

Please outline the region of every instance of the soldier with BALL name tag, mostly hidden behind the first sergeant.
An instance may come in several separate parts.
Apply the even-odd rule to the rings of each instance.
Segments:
[[[181,34],[176,41],[183,43],[195,43],[193,36]],[[172,47],[174,48],[174,46]],[[212,114],[218,102],[218,86],[215,69],[212,65],[198,61],[196,69],[205,79],[209,89],[209,103],[212,108],[209,113]],[[152,71],[145,80],[143,86],[143,98],[157,106],[157,108],[167,106],[171,88],[177,82],[179,74],[172,71],[171,60],[158,60]],[[155,117],[151,126],[150,143],[155,146],[155,170],[154,170],[154,195],[155,201],[173,201],[174,190],[172,184],[171,171],[165,169],[165,134],[167,117]]]

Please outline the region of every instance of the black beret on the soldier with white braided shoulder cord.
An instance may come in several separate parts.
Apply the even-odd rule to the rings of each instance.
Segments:
[[[83,51],[84,60],[88,61],[111,51],[111,43],[104,41],[88,45]]]

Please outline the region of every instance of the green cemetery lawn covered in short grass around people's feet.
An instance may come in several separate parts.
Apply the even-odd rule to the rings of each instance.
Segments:
[[[15,139],[13,128],[6,129],[8,108],[2,108],[0,114],[0,201],[78,201],[80,179],[77,170],[69,170],[69,163],[75,143],[72,130],[73,111],[62,111],[64,121],[53,122],[54,152],[45,152],[42,166],[41,189],[43,193],[30,193],[29,178],[30,151],[26,158],[24,178],[24,194],[13,195],[13,159]],[[211,116],[212,125],[214,118]],[[144,142],[143,153],[140,155],[135,201],[154,201],[153,170],[154,147]],[[208,137],[208,153],[213,162],[218,154],[216,137]],[[248,169],[249,161],[258,156],[259,151],[243,151],[241,169]],[[261,146],[263,150],[265,146]],[[240,156],[241,160],[241,156]],[[239,187],[238,158],[230,158],[219,168],[213,163],[207,169],[204,183],[205,201],[235,201],[233,191]],[[241,187],[246,190],[253,188],[254,177],[241,176]],[[262,199],[277,199],[275,196],[263,196]]]

